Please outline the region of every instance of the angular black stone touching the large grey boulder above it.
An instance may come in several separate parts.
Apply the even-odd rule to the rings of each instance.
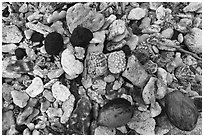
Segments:
[[[78,26],[72,32],[70,42],[73,46],[86,48],[92,38],[93,33],[89,29]]]

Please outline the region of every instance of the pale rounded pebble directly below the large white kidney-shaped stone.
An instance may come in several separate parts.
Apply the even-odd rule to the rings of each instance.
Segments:
[[[52,94],[56,100],[65,101],[71,95],[69,89],[61,84],[59,81],[52,85]]]

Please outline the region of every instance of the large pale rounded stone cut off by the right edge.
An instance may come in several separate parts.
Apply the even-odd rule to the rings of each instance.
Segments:
[[[202,30],[199,28],[191,29],[190,33],[184,36],[184,43],[190,51],[196,54],[202,53]]]

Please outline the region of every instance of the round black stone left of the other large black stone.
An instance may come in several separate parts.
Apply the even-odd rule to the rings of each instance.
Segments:
[[[45,38],[45,50],[50,55],[58,55],[63,49],[62,35],[57,32],[48,34]]]

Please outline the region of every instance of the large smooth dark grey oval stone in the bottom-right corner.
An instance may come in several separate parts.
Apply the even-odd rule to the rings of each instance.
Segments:
[[[184,131],[191,131],[196,127],[198,110],[193,101],[175,90],[166,95],[165,108],[169,121]]]

